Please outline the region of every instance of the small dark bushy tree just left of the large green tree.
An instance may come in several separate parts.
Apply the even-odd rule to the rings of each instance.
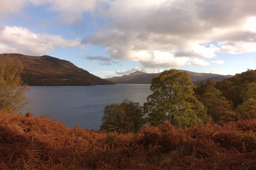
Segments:
[[[139,103],[124,101],[106,106],[100,129],[108,132],[138,132],[144,122],[143,107]]]

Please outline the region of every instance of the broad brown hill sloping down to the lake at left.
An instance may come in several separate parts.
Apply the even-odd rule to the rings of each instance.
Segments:
[[[1,57],[19,60],[24,67],[22,81],[28,85],[107,85],[114,84],[88,71],[81,69],[67,60],[57,59],[49,55],[41,57],[4,53]]]

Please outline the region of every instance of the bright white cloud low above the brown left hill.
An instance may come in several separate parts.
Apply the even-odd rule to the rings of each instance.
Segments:
[[[37,34],[25,27],[0,27],[0,53],[42,55],[56,46],[79,46],[79,39],[64,39],[54,34]]]

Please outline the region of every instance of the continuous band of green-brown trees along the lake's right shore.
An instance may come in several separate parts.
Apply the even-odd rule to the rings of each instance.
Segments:
[[[171,69],[153,78],[147,102],[106,106],[101,129],[138,132],[145,125],[175,127],[256,118],[256,71],[194,85],[186,71]]]

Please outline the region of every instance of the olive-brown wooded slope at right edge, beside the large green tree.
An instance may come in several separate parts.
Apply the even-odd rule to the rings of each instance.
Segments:
[[[254,118],[256,112],[256,71],[248,70],[222,81],[200,83],[196,97],[207,107],[207,114],[220,124]]]

